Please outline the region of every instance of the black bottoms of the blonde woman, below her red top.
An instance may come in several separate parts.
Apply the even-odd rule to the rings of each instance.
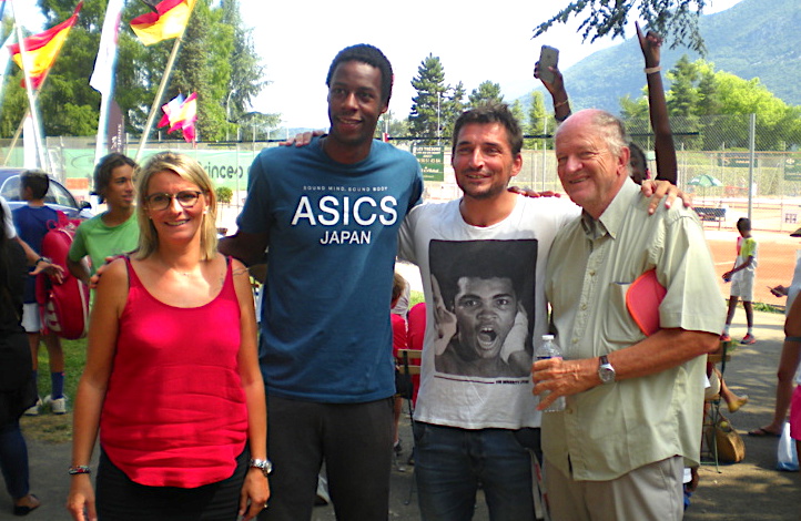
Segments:
[[[100,521],[235,521],[250,450],[236,458],[231,478],[194,489],[148,487],[129,479],[100,451],[97,504]]]

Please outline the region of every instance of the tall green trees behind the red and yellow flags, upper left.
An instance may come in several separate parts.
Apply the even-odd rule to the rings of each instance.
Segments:
[[[107,0],[85,2],[61,53],[39,94],[39,111],[47,135],[92,135],[97,132],[100,93],[89,86],[100,43]],[[38,0],[50,28],[67,19],[75,0]],[[215,7],[212,7],[215,6]],[[246,106],[266,85],[264,68],[253,47],[252,30],[239,14],[239,0],[197,0],[186,27],[168,88],[166,103],[179,92],[197,92],[197,131],[203,140],[219,140],[235,125],[226,122],[246,113]],[[125,118],[126,131],[140,133],[162,80],[175,40],[145,47],[130,29],[130,20],[148,11],[129,1],[122,14],[114,99]],[[0,135],[11,136],[28,109],[19,88],[16,65],[3,93]],[[158,120],[156,120],[158,121]],[[179,133],[170,137],[181,140]]]

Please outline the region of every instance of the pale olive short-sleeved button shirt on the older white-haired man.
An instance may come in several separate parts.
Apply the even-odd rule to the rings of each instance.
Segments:
[[[659,205],[627,180],[599,219],[584,213],[564,227],[548,258],[546,294],[566,359],[592,358],[645,335],[626,292],[656,268],[667,288],[662,328],[719,334],[726,317],[712,257],[698,216]],[[549,464],[576,480],[606,481],[672,456],[700,458],[706,357],[567,397],[564,412],[543,415]]]

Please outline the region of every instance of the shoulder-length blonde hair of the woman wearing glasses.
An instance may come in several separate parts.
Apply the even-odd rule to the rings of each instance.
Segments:
[[[197,185],[206,198],[206,214],[201,224],[201,258],[209,260],[217,253],[217,198],[209,174],[193,157],[174,152],[161,152],[150,157],[136,172],[136,218],[139,221],[139,247],[134,258],[142,260],[159,249],[159,234],[148,217],[148,183],[160,172],[173,172],[182,180]]]

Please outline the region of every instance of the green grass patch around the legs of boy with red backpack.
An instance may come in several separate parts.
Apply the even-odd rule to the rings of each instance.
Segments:
[[[64,350],[64,395],[69,398],[68,413],[55,416],[42,408],[39,416],[23,416],[20,420],[22,430],[28,438],[40,441],[60,443],[72,439],[72,405],[75,398],[78,380],[87,361],[87,339],[61,339]],[[43,345],[39,347],[39,396],[50,394],[50,359]]]

